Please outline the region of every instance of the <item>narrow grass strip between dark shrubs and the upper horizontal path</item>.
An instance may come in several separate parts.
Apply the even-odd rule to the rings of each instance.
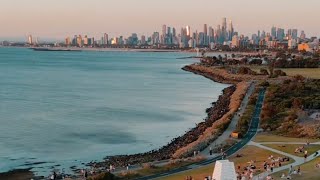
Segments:
[[[284,136],[276,136],[267,133],[260,133],[257,134],[256,137],[253,139],[254,142],[318,142],[318,139],[303,139],[303,138],[290,138]]]

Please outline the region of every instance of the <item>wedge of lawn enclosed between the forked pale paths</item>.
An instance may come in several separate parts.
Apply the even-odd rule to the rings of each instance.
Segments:
[[[277,149],[282,152],[286,152],[288,154],[295,155],[295,156],[299,156],[299,157],[304,156],[304,152],[303,153],[294,153],[296,148],[298,148],[299,146],[302,146],[300,144],[284,144],[285,147],[282,147],[282,145],[280,145],[280,144],[263,144],[263,145],[270,147],[270,148],[273,148],[273,149]],[[311,154],[315,153],[316,151],[320,150],[320,145],[310,144],[309,146],[305,147],[305,150],[308,151],[308,155],[311,155]]]

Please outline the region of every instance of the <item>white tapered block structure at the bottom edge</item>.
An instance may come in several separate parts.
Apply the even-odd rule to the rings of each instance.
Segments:
[[[217,161],[212,174],[212,180],[235,180],[237,179],[234,163],[229,160]]]

